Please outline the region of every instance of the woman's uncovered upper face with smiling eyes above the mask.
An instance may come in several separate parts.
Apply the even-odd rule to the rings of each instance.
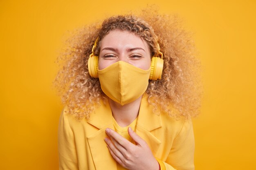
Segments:
[[[110,31],[101,40],[99,70],[118,61],[148,70],[151,64],[148,44],[142,38],[128,31]]]

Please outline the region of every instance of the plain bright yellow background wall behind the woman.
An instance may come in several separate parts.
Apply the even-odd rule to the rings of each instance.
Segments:
[[[255,168],[256,1],[1,0],[1,170],[58,169],[62,105],[51,86],[64,34],[153,3],[184,19],[200,51],[204,99],[193,120],[196,170]]]

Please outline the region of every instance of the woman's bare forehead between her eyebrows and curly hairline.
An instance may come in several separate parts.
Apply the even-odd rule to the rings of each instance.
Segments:
[[[149,50],[149,46],[143,38],[132,32],[121,30],[112,30],[101,40],[101,49],[110,46],[115,48],[141,47]]]

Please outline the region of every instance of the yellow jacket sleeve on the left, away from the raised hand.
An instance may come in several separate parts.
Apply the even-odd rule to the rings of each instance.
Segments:
[[[74,133],[63,109],[58,125],[59,170],[78,170]]]

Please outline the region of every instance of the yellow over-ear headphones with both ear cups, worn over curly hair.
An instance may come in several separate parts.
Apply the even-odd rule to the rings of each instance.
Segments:
[[[88,60],[88,70],[90,73],[90,76],[94,78],[98,78],[98,61],[99,56],[94,55],[94,48],[96,47],[98,42],[98,38],[96,39],[94,46],[92,47],[92,53],[89,56]],[[151,59],[151,71],[149,79],[157,80],[162,78],[162,71],[164,66],[164,60],[163,60],[163,53],[160,52],[159,44],[157,43],[157,51],[161,55],[161,58],[159,56],[153,56]]]

